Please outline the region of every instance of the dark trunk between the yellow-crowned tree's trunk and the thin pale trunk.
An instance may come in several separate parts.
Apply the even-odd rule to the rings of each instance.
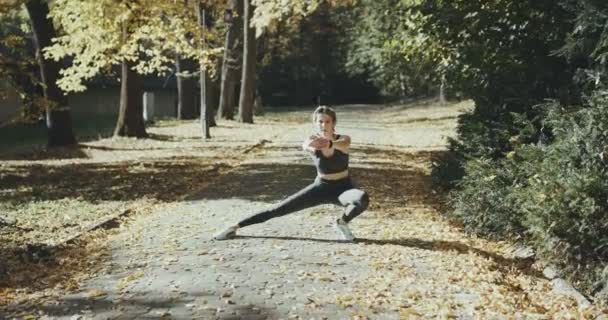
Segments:
[[[177,118],[196,118],[196,78],[192,76],[196,70],[196,62],[192,59],[181,59],[177,57],[175,63],[177,79]],[[190,77],[182,77],[180,73],[186,72]]]

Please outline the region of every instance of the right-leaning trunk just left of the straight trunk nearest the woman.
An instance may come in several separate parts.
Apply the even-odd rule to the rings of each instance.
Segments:
[[[234,12],[236,17],[232,17],[226,22],[227,31],[224,41],[220,102],[217,111],[217,116],[222,119],[234,119],[235,87],[241,67],[239,47],[242,41],[239,41],[239,38],[243,30],[243,0],[230,0],[230,10]]]

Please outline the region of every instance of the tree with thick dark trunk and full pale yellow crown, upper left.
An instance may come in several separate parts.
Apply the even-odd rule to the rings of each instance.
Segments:
[[[197,23],[194,1],[56,0],[51,17],[63,35],[45,50],[55,60],[70,57],[58,85],[83,91],[85,82],[112,66],[121,65],[121,103],[117,136],[145,137],[142,86],[139,75],[165,74],[175,56],[200,64],[220,49],[202,43],[208,31]],[[208,34],[208,43],[214,35]]]

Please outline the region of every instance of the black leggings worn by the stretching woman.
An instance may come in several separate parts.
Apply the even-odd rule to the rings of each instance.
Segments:
[[[317,177],[306,188],[281,201],[270,209],[257,212],[238,223],[245,227],[262,223],[288,213],[314,207],[324,203],[333,203],[346,207],[342,219],[349,222],[367,209],[369,196],[353,186],[350,178],[340,180],[323,180]]]

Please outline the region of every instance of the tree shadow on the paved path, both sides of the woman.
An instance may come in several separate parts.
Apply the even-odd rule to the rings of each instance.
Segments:
[[[379,151],[368,148],[362,152]],[[393,159],[398,155],[428,164],[433,152],[418,154],[393,151],[385,154]],[[430,175],[405,162],[395,164],[367,161],[352,165],[349,171],[355,185],[369,193],[372,199],[370,210],[409,205],[435,206],[439,202],[439,197],[433,193]],[[193,193],[186,200],[239,198],[275,202],[306,187],[314,181],[315,176],[312,164],[244,164],[220,176],[213,184]]]

